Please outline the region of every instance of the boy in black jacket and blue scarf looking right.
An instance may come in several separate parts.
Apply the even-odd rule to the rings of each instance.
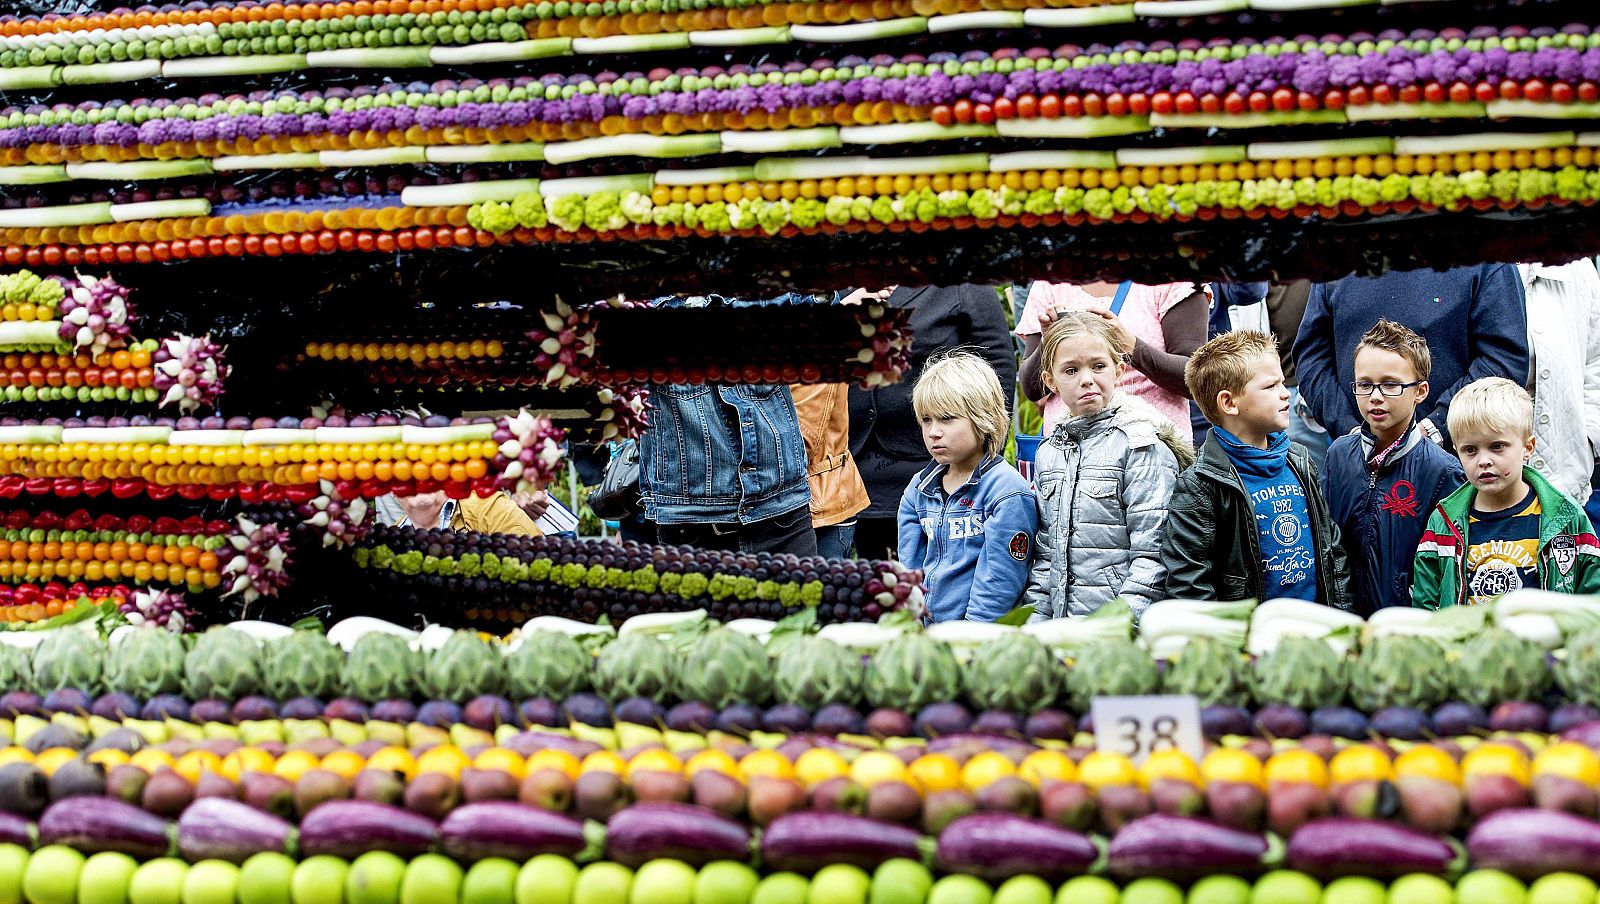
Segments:
[[[1200,347],[1184,382],[1213,430],[1178,475],[1162,560],[1166,594],[1290,597],[1350,608],[1350,574],[1317,464],[1290,442],[1277,341],[1248,330]]]

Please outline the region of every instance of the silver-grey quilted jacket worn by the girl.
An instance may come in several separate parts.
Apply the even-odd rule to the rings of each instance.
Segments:
[[[1162,598],[1162,531],[1194,448],[1136,395],[1056,424],[1034,459],[1038,536],[1024,602],[1032,621],[1086,616],[1115,597]]]

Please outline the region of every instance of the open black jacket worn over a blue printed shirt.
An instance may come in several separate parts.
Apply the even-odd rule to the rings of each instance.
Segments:
[[[1350,566],[1339,530],[1328,515],[1317,464],[1306,446],[1290,446],[1290,469],[1306,490],[1312,546],[1317,550],[1317,598],[1349,611]],[[1186,600],[1264,600],[1266,568],[1256,509],[1234,461],[1216,435],[1206,437],[1195,462],[1178,475],[1162,538],[1166,595]]]

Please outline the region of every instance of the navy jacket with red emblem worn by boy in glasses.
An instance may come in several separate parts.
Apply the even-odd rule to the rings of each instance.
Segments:
[[[1456,456],[1414,422],[1376,475],[1366,469],[1371,453],[1365,429],[1342,435],[1328,446],[1322,472],[1322,494],[1350,562],[1350,595],[1363,616],[1411,605],[1411,563],[1427,517],[1467,480]]]

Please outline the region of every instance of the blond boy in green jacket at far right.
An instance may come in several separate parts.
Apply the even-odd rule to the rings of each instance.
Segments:
[[[1434,507],[1416,550],[1411,603],[1478,605],[1522,587],[1600,592],[1600,542],[1582,506],[1531,467],[1533,398],[1506,378],[1450,402],[1467,483]]]

